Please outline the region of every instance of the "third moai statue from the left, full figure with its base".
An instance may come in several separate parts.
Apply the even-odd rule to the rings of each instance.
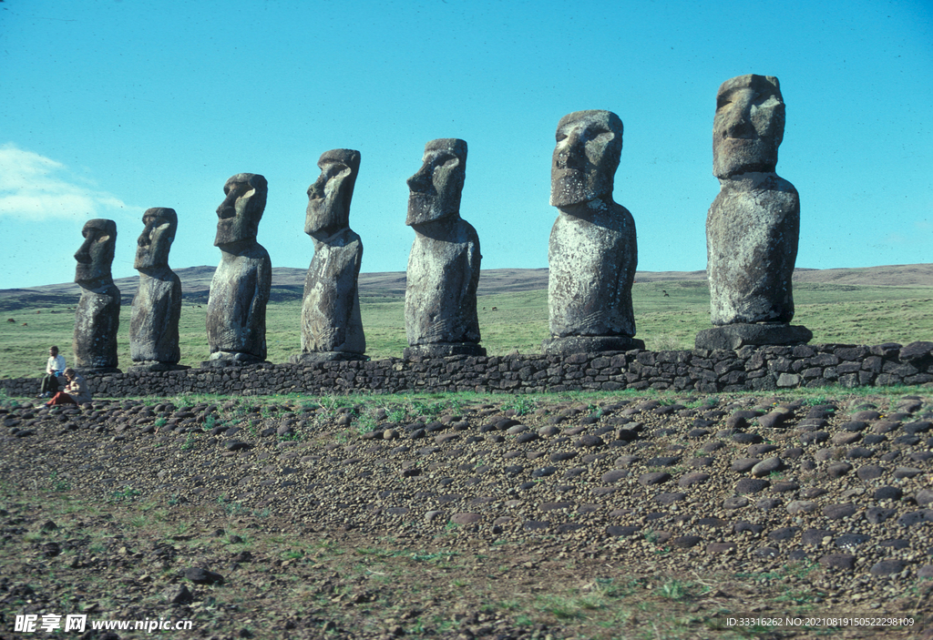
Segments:
[[[220,264],[207,300],[210,360],[202,367],[266,360],[266,304],[272,288],[269,253],[256,241],[268,185],[256,173],[237,173],[224,184],[217,207]]]

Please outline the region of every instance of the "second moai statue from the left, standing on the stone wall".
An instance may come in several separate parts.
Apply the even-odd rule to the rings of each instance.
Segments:
[[[178,364],[178,320],[181,318],[181,279],[169,268],[178,216],[174,209],[156,207],[143,213],[143,233],[136,240],[133,268],[139,271],[139,291],[132,299],[130,356],[133,369],[171,371]]]

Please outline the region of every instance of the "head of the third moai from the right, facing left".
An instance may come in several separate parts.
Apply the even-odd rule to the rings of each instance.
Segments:
[[[466,180],[466,141],[439,138],[425,144],[421,169],[408,179],[406,225],[424,225],[460,216],[460,196]]]

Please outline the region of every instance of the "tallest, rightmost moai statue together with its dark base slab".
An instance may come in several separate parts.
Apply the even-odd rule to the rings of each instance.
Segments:
[[[719,195],[706,215],[706,271],[713,329],[696,347],[795,345],[813,334],[791,326],[791,279],[801,201],[774,172],[784,138],[784,100],[776,77],[739,75],[717,93],[713,173]]]

